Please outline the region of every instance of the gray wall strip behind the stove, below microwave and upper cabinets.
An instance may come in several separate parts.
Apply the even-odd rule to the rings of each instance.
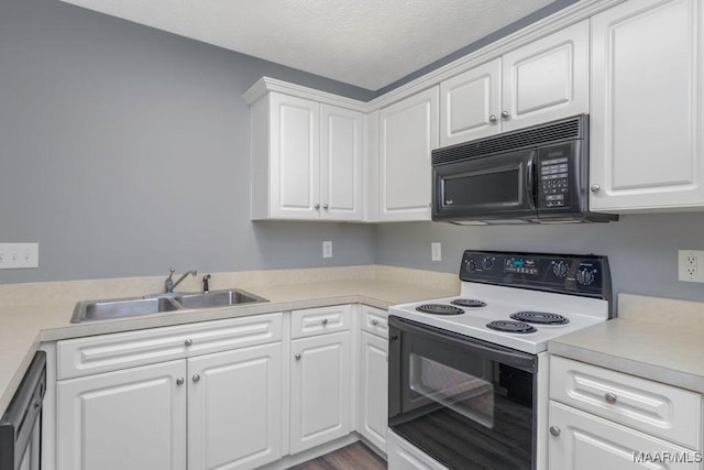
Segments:
[[[561,226],[459,227],[414,222],[380,226],[377,262],[459,272],[462,251],[596,253],[609,259],[614,292],[704,300],[704,284],[678,281],[678,249],[704,249],[701,212],[623,216],[617,222]],[[430,243],[442,261],[430,261]]]

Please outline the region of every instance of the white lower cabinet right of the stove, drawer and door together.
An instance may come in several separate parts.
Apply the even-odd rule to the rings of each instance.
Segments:
[[[702,396],[550,358],[550,470],[702,469]]]

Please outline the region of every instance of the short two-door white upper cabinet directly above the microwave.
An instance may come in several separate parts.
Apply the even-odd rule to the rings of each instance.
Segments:
[[[442,146],[588,112],[588,20],[442,81]]]

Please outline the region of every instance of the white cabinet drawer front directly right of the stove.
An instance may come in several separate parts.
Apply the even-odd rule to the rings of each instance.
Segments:
[[[698,393],[553,356],[550,398],[692,449],[701,447]]]

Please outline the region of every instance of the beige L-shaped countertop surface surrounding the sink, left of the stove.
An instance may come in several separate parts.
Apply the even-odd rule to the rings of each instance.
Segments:
[[[73,302],[31,306],[0,305],[0,415],[9,405],[34,352],[44,341],[328,305],[360,303],[385,309],[393,304],[457,295],[459,284],[429,287],[418,283],[359,278],[246,289],[270,302],[82,324],[70,323],[75,306]]]

